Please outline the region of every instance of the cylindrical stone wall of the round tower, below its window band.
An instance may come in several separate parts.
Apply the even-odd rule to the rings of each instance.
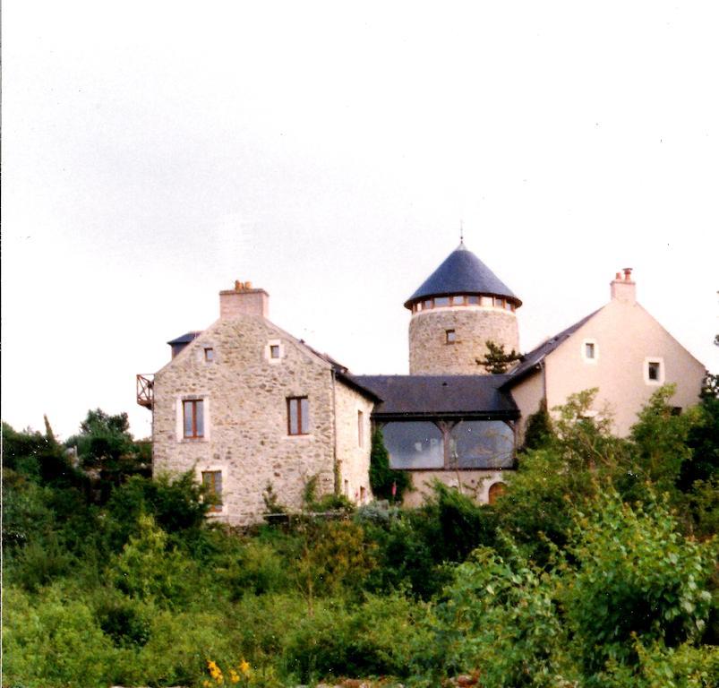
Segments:
[[[446,332],[456,340],[447,343]],[[413,315],[409,322],[409,374],[486,374],[477,358],[486,353],[485,342],[519,348],[517,316],[511,311],[481,306],[435,308]]]

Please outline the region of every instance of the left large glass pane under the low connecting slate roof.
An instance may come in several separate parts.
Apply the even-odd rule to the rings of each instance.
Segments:
[[[427,421],[388,423],[382,428],[393,469],[444,468],[440,428]]]

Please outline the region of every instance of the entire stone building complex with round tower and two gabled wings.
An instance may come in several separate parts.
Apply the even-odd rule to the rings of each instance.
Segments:
[[[319,495],[372,498],[372,426],[382,428],[393,468],[412,474],[420,503],[439,478],[487,502],[516,466],[526,418],[599,387],[619,434],[656,387],[677,384],[675,402],[698,400],[704,366],[638,305],[630,272],[612,300],[526,354],[506,374],[477,359],[492,340],[518,349],[521,300],[460,244],[407,299],[408,375],[354,375],[268,319],[269,296],[250,283],[219,294],[219,319],[168,342],[172,360],[138,376],[152,410],[153,471],[195,470],[214,491],[213,516],[259,520],[269,486],[278,503]]]

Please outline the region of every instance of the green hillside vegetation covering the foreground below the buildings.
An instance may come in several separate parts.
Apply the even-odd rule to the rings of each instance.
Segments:
[[[533,418],[492,506],[309,485],[242,533],[192,475],[150,479],[124,416],[64,445],[4,426],[3,685],[719,685],[716,386],[679,416],[660,389],[626,440],[593,393]]]

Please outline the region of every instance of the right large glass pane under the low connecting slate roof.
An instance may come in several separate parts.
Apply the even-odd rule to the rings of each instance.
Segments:
[[[509,469],[514,431],[500,420],[463,420],[450,433],[449,452],[459,469]]]

